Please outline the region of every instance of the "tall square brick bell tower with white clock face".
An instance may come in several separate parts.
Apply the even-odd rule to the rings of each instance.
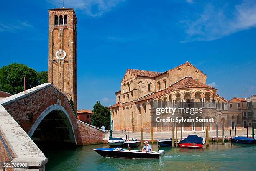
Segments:
[[[77,17],[73,8],[48,13],[48,83],[72,98],[77,111]]]

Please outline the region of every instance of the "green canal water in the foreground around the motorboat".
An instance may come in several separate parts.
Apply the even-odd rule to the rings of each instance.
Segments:
[[[103,158],[88,145],[63,150],[44,150],[46,171],[255,171],[256,145],[210,143],[209,148],[165,147],[161,159]],[[139,149],[139,148],[138,148]],[[157,144],[153,145],[157,151]]]

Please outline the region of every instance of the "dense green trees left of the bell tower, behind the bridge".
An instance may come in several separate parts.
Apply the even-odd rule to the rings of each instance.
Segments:
[[[26,78],[26,89],[47,82],[46,71],[38,73],[24,64],[13,63],[0,68],[0,90],[10,94],[22,92],[24,77]]]

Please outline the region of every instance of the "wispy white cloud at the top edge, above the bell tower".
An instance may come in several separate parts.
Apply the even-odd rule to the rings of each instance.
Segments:
[[[56,7],[63,6],[63,0],[47,0]],[[125,0],[65,0],[64,7],[75,8],[92,17],[99,17]]]

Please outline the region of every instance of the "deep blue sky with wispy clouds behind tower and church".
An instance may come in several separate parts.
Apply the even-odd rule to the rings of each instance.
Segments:
[[[1,5],[0,66],[47,70],[47,9],[62,0]],[[166,71],[186,60],[227,100],[256,94],[253,0],[64,0],[64,7],[78,19],[78,109],[113,104],[127,68]]]

